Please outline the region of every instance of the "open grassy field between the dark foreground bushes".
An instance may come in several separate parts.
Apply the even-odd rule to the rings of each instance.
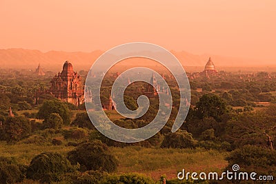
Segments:
[[[26,143],[8,144],[0,142],[0,156],[9,157],[18,163],[28,165],[32,158],[41,152],[66,154],[75,147],[66,145],[36,145]],[[143,173],[158,180],[161,175],[176,178],[177,172],[220,172],[226,167],[226,152],[204,149],[161,149],[138,146],[110,147],[119,160],[117,173]]]

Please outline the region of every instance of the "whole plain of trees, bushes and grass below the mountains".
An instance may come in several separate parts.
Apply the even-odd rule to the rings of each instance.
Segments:
[[[162,178],[177,183],[173,178],[184,168],[223,172],[234,163],[242,171],[275,174],[276,81],[266,72],[190,80],[190,110],[174,133],[179,91],[167,79],[174,105],[170,119],[158,134],[139,143],[100,134],[83,106],[46,92],[50,76],[34,78],[15,70],[0,75],[0,183],[159,183]],[[108,101],[112,81],[110,76],[103,83],[103,100]],[[124,101],[130,110],[137,109],[141,92],[136,89],[143,85],[127,88]],[[124,119],[115,110],[106,114],[121,127],[143,127],[155,118],[158,103],[150,99],[139,119]],[[10,107],[14,116],[9,116]]]

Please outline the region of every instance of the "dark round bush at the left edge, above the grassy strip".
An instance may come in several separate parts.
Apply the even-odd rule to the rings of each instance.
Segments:
[[[6,141],[19,141],[30,136],[32,126],[25,116],[8,117],[3,122],[3,133]]]

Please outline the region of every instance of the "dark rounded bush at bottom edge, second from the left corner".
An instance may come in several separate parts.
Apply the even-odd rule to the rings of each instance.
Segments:
[[[73,172],[75,168],[70,161],[58,153],[43,152],[34,156],[27,170],[27,177],[50,183],[59,181],[60,175]]]

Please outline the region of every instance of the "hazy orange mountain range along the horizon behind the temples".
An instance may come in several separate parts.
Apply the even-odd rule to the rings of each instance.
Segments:
[[[198,66],[199,70],[204,68],[209,57],[212,57],[215,66],[219,67],[246,67],[265,65],[254,59],[242,59],[235,57],[223,57],[213,54],[196,55],[189,52],[171,51],[184,66]],[[39,63],[44,70],[60,70],[64,61],[73,63],[77,70],[88,70],[92,63],[103,53],[101,50],[92,52],[63,52],[39,50],[28,50],[22,48],[1,49],[0,68],[36,68]]]

